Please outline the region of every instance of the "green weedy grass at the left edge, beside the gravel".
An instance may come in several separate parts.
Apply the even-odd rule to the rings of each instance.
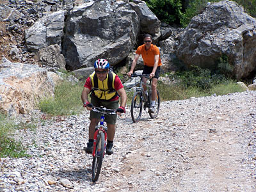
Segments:
[[[17,128],[12,120],[0,114],[0,157],[29,157],[22,141],[15,141],[12,134]]]

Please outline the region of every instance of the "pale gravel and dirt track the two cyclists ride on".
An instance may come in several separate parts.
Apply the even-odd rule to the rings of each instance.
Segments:
[[[246,191],[256,190],[256,92],[161,103],[118,118],[112,156],[91,182],[84,154],[88,112],[20,132],[31,158],[1,159],[0,191]],[[85,138],[85,139],[84,139]]]

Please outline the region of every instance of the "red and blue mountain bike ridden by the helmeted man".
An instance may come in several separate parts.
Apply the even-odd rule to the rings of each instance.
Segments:
[[[100,124],[95,127],[93,136],[92,181],[96,182],[99,179],[100,169],[102,166],[107,143],[108,127],[104,125],[105,115],[115,115],[116,109],[97,108],[93,106],[92,111],[101,114]]]

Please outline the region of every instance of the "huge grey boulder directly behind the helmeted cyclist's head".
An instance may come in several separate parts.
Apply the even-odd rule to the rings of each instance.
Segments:
[[[70,11],[62,53],[67,69],[92,67],[97,58],[111,65],[124,60],[136,44],[139,18],[124,1],[91,1]]]

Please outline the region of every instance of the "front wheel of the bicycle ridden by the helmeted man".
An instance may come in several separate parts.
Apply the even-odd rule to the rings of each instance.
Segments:
[[[104,133],[99,132],[97,136],[95,156],[92,161],[92,181],[95,182],[99,179],[100,169],[102,166],[102,161],[104,157],[105,150],[105,140]]]

